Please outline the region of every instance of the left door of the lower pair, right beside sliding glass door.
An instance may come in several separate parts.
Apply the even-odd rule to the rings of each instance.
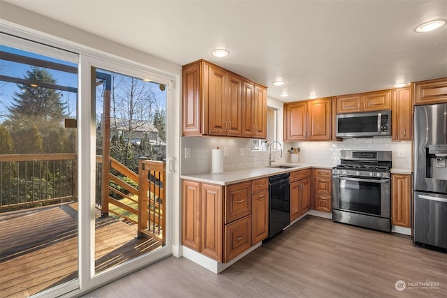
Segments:
[[[182,181],[182,244],[200,251],[200,182]]]

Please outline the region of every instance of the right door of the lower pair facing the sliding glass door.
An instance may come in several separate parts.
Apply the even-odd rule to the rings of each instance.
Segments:
[[[201,251],[203,255],[222,262],[222,186],[202,184]]]

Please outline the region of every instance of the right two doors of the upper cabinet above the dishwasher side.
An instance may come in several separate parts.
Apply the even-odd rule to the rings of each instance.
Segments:
[[[267,89],[249,80],[242,83],[242,137],[267,137]]]

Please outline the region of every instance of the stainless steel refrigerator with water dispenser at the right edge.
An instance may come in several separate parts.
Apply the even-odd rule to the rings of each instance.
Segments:
[[[414,109],[414,236],[447,249],[447,103]]]

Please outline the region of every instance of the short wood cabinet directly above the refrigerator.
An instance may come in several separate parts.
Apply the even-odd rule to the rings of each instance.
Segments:
[[[414,104],[447,103],[447,77],[413,83]]]

